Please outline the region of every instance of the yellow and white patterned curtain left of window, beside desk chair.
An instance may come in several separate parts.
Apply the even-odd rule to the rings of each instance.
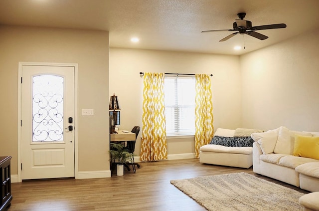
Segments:
[[[142,161],[167,159],[164,73],[144,73]]]

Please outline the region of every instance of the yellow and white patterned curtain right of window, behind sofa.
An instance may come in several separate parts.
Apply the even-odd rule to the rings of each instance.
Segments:
[[[195,157],[199,157],[199,148],[208,144],[214,134],[213,103],[209,75],[196,74],[195,98]]]

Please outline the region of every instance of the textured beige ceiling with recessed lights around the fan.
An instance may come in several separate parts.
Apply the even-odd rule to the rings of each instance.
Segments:
[[[258,31],[266,40],[200,33],[232,28],[239,12],[253,26],[287,28]],[[319,0],[0,0],[0,24],[107,30],[111,47],[240,55],[319,28]]]

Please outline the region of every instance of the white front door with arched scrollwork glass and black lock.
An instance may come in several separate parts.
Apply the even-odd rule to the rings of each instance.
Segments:
[[[22,180],[74,177],[74,67],[22,65]]]

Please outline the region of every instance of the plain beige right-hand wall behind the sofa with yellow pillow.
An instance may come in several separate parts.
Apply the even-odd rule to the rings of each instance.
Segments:
[[[319,131],[319,29],[240,57],[243,127]]]

